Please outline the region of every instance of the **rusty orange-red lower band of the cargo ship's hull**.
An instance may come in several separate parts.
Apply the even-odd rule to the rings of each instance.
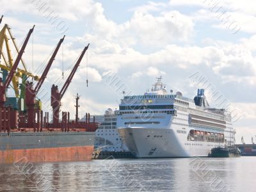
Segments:
[[[92,153],[93,146],[4,150],[0,152],[0,163],[90,161]]]

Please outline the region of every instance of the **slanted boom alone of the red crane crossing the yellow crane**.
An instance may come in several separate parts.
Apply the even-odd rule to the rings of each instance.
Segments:
[[[35,28],[35,25],[33,26],[32,29],[29,29],[29,33],[28,33],[28,35],[27,35],[27,37],[26,37],[26,39],[25,39],[25,41],[24,41],[24,43],[23,43],[23,45],[22,45],[22,47],[20,49],[20,52],[19,52],[19,54],[18,54],[18,56],[17,56],[17,58],[15,60],[15,63],[12,66],[12,70],[10,71],[8,77],[6,78],[6,81],[4,82],[4,90],[1,90],[1,93],[3,93],[3,91],[5,91],[5,89],[10,85],[10,83],[12,81],[12,77],[15,74],[15,71],[16,71],[18,65],[19,65],[20,59],[22,57],[22,54],[25,51],[26,45],[28,44],[28,40],[29,40],[31,34],[33,33],[34,28]]]

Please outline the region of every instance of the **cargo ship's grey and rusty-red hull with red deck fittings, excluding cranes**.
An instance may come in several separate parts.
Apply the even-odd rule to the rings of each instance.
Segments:
[[[86,122],[70,121],[69,113],[62,112],[61,122],[53,127],[53,123],[48,122],[49,113],[43,116],[41,111],[35,119],[38,123],[35,122],[33,128],[28,128],[28,123],[22,122],[26,120],[24,113],[10,107],[0,108],[0,111],[0,164],[92,159],[95,131],[98,127],[95,121],[90,122],[88,118]],[[14,128],[13,124],[26,128]]]

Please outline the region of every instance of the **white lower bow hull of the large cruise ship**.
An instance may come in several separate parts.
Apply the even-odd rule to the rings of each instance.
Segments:
[[[204,157],[218,143],[188,141],[173,129],[125,127],[118,128],[120,136],[131,152],[139,158],[150,157]]]

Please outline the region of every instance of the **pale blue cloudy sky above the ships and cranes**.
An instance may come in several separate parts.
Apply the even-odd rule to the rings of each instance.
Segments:
[[[220,106],[221,98],[236,111],[237,143],[241,136],[246,143],[252,136],[256,139],[256,2],[0,0],[0,4],[0,15],[4,15],[1,28],[9,24],[18,45],[36,25],[24,53],[31,72],[42,72],[40,67],[66,35],[38,95],[43,97],[45,111],[51,111],[51,84],[63,83],[67,76],[63,80],[62,71],[68,74],[90,43],[63,97],[63,111],[74,116],[77,92],[81,95],[80,116],[118,108],[122,88],[106,83],[106,74],[116,76],[132,94],[144,93],[156,77],[163,76],[168,90],[186,97],[193,98],[197,88],[208,88],[212,107]]]

